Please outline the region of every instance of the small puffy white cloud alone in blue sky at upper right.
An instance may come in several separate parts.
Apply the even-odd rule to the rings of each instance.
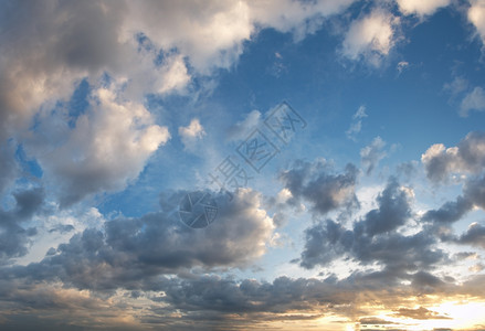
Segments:
[[[379,66],[383,56],[388,55],[394,44],[394,25],[397,18],[380,9],[350,24],[344,44],[342,55],[357,61],[366,60]]]

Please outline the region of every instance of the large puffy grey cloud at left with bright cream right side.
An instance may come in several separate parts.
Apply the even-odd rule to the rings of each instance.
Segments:
[[[169,138],[168,129],[155,125],[143,105],[101,87],[93,90],[89,108],[73,129],[49,114],[25,149],[59,184],[61,204],[70,205],[89,194],[124,189]]]

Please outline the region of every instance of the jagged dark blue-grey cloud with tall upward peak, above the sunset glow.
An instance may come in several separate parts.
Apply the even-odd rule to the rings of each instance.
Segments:
[[[301,265],[326,266],[347,256],[363,265],[379,263],[396,273],[393,277],[407,277],[405,271],[430,269],[447,259],[434,247],[436,239],[428,229],[413,235],[397,232],[412,213],[407,193],[396,179],[389,180],[377,203],[378,209],[369,211],[350,229],[333,220],[307,228]]]

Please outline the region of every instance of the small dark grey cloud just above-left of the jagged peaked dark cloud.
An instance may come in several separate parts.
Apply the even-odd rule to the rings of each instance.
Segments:
[[[296,161],[291,170],[280,174],[280,179],[293,195],[289,203],[306,200],[314,212],[324,215],[341,206],[352,209],[358,205],[355,194],[357,174],[357,168],[350,163],[344,173],[335,174],[326,161]]]

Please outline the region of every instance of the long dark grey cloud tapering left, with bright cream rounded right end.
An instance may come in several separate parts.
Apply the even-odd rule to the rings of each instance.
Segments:
[[[219,196],[218,220],[201,229],[166,212],[107,221],[103,231],[87,228],[61,244],[55,254],[51,250],[42,261],[14,273],[107,290],[139,288],[143,279],[192,267],[246,267],[264,254],[274,228],[272,218],[260,209],[260,199],[251,190],[239,191],[231,203]]]

